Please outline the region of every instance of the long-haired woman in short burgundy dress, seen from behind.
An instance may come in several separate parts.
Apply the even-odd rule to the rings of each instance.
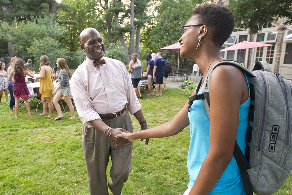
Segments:
[[[28,115],[31,116],[31,108],[28,102],[28,98],[30,96],[30,93],[28,91],[28,88],[26,86],[24,75],[28,75],[33,78],[35,72],[33,74],[29,73],[28,70],[26,70],[24,66],[24,62],[22,59],[17,59],[16,63],[14,65],[14,68],[11,70],[8,80],[10,81],[12,78],[12,75],[14,75],[14,91],[13,91],[13,97],[15,97],[15,117],[18,117],[18,107],[19,107],[19,98],[22,97],[25,106],[28,111]]]

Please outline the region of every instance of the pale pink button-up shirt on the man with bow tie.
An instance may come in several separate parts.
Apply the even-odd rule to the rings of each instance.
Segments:
[[[119,60],[103,57],[103,65],[94,67],[86,58],[72,75],[71,90],[81,121],[100,119],[99,114],[119,112],[127,106],[133,115],[141,109],[126,66]],[[99,114],[98,114],[99,113]]]

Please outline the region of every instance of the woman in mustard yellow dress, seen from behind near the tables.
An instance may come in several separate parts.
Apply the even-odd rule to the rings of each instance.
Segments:
[[[52,103],[52,93],[54,91],[53,85],[53,69],[50,67],[50,60],[48,56],[40,57],[40,75],[36,77],[36,80],[40,80],[40,90],[42,94],[41,100],[43,103],[43,113],[39,116],[54,116],[54,106]],[[47,104],[49,107],[50,115],[47,115]]]

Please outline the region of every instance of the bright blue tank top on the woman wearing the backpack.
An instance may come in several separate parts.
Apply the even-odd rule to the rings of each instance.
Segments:
[[[247,79],[246,76],[245,78]],[[202,88],[198,94],[202,94]],[[247,144],[245,136],[249,106],[250,94],[247,101],[239,107],[239,124],[236,139],[243,153]],[[187,163],[190,182],[188,186],[192,188],[209,150],[210,120],[205,112],[202,100],[193,101],[190,112],[188,112],[188,118],[190,120],[190,147]],[[242,179],[234,157],[232,157],[232,160],[210,194],[245,195]]]

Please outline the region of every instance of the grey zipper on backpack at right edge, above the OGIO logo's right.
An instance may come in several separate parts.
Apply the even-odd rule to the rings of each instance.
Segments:
[[[285,130],[285,145],[290,145],[290,132],[291,132],[291,122],[290,122],[290,110],[288,106],[288,96],[287,96],[287,88],[284,83],[283,77],[280,74],[276,74],[277,77],[280,79],[280,86],[283,91],[285,106],[286,106],[286,130]]]

